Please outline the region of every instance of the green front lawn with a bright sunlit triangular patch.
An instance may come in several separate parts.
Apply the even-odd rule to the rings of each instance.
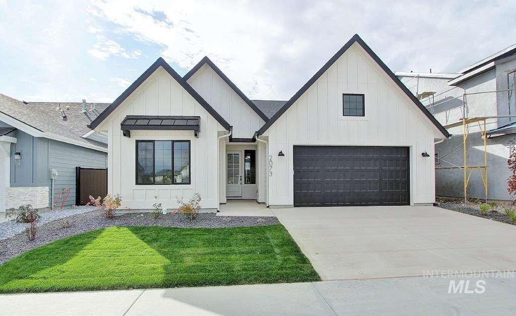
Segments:
[[[111,227],[0,265],[0,292],[236,285],[320,280],[281,225]]]

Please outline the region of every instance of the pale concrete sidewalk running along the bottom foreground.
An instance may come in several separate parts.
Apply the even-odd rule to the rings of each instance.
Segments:
[[[514,273],[513,273],[514,274]],[[448,293],[451,278],[409,277],[228,287],[0,295],[2,315],[414,315],[514,314],[516,279],[462,277],[474,290]]]

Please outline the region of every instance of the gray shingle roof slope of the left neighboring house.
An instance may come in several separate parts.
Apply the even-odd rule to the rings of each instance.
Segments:
[[[99,141],[81,137],[84,135],[84,133],[81,134],[80,132],[82,131],[79,131],[80,124],[77,123],[78,129],[73,131],[75,129],[72,127],[69,128],[66,123],[59,122],[55,119],[55,116],[50,116],[46,113],[48,112],[48,109],[45,111],[42,109],[43,106],[38,106],[37,104],[38,103],[25,104],[19,100],[10,98],[0,93],[0,112],[4,113],[5,115],[44,133],[50,133],[59,137],[67,138],[74,141],[75,143],[83,143],[85,145],[94,145],[107,148],[106,144],[100,143]],[[53,104],[55,110],[58,103]],[[59,119],[62,120],[60,112],[58,113]],[[84,124],[86,124],[86,122],[84,122]]]

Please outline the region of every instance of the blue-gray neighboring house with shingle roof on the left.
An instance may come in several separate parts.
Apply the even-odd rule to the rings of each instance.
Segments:
[[[86,125],[107,105],[27,103],[0,94],[0,212],[51,207],[51,169],[58,171],[54,199],[70,188],[65,206],[75,204],[76,167],[106,168],[107,138]]]

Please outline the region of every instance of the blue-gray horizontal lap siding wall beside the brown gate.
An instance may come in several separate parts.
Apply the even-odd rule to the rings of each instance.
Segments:
[[[63,189],[69,187],[70,194],[65,202],[66,206],[75,204],[76,195],[76,167],[105,169],[107,164],[107,153],[84,147],[79,147],[61,141],[49,140],[49,168],[43,168],[50,178],[49,169],[57,169],[59,176],[54,181],[54,200]],[[50,181],[50,180],[49,180]],[[50,190],[49,190],[50,192]],[[63,194],[63,195],[66,195]],[[51,192],[49,194],[51,199]],[[56,204],[59,208],[62,198]],[[52,202],[53,203],[53,202]]]

